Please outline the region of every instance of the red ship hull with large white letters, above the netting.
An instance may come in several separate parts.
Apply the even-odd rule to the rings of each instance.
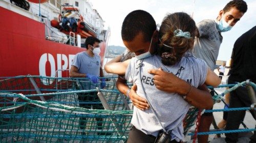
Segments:
[[[46,40],[45,25],[0,7],[0,76],[55,76],[70,69],[74,55],[84,48]],[[106,43],[101,43],[103,61]],[[102,63],[102,62],[101,62]],[[67,71],[58,77],[67,77]]]

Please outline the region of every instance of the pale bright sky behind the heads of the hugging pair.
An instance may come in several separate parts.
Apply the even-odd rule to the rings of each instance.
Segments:
[[[111,28],[109,45],[124,46],[121,39],[121,25],[124,17],[133,10],[145,10],[153,15],[157,23],[161,23],[166,13],[186,12],[194,15],[194,20],[216,19],[220,10],[229,2],[226,0],[93,0],[93,8],[98,11],[105,26]],[[247,12],[234,25],[231,31],[222,33],[223,42],[220,47],[218,60],[228,61],[233,44],[243,33],[256,25],[256,1],[245,0]]]

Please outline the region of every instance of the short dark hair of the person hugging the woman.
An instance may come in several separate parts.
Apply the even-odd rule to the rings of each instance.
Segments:
[[[156,28],[156,21],[150,13],[143,10],[132,11],[123,20],[122,40],[132,41],[135,36],[142,33],[144,42],[151,41]]]

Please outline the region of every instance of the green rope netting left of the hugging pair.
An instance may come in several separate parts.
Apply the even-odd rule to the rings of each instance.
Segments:
[[[37,88],[29,78],[33,78]],[[81,80],[36,76],[2,79],[1,92],[22,93],[29,99],[15,97],[15,94],[0,96],[0,142],[125,142],[132,115],[104,113],[105,110],[100,110],[104,109],[100,100],[95,99],[95,90],[77,93]],[[120,93],[115,91],[114,82],[108,81],[101,93],[111,110],[126,110]],[[67,112],[50,106],[27,104],[32,102],[31,99],[76,107],[79,112],[76,109]],[[9,109],[5,111],[6,108]]]

